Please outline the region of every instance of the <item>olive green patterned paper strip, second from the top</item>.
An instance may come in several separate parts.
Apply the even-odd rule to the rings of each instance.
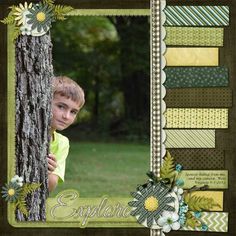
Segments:
[[[223,46],[224,28],[166,27],[166,45]]]

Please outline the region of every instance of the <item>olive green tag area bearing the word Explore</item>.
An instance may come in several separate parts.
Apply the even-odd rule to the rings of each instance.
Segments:
[[[77,227],[137,227],[130,215],[129,198],[80,198],[76,190],[60,192],[47,199],[47,222],[73,222]]]

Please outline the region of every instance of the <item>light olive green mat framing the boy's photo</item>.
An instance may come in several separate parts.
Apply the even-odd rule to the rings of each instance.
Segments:
[[[150,11],[148,9],[145,10],[75,10],[73,15],[125,15],[125,16],[150,16]],[[9,126],[8,126],[8,179],[10,180],[12,176],[14,176],[14,159],[11,158],[12,156],[14,156],[14,152],[15,152],[15,142],[14,142],[14,132],[12,132],[12,128],[14,127],[15,124],[15,116],[14,116],[14,107],[15,107],[15,98],[14,98],[14,89],[15,89],[15,82],[14,82],[14,43],[12,41],[12,28],[9,26],[8,27],[8,65],[10,65],[8,67],[8,122],[9,122]],[[14,129],[13,129],[14,130]],[[79,227],[141,227],[139,224],[137,224],[137,222],[135,221],[135,219],[131,216],[128,217],[127,214],[125,214],[125,218],[121,217],[118,219],[115,219],[114,215],[112,215],[111,213],[107,212],[105,213],[105,219],[96,219],[96,217],[93,220],[89,220],[87,222],[86,219],[86,211],[89,208],[86,208],[81,210],[80,213],[78,213],[78,210],[75,211],[74,213],[72,213],[72,217],[68,219],[68,216],[66,215],[64,218],[59,216],[55,216],[53,214],[50,215],[50,213],[52,212],[52,210],[50,211],[51,208],[57,208],[58,206],[58,201],[61,201],[61,199],[65,196],[65,199],[69,197],[73,196],[75,198],[77,198],[79,196],[79,193],[76,190],[66,190],[65,192],[59,194],[59,196],[57,196],[56,198],[49,198],[47,200],[48,204],[47,207],[49,208],[49,210],[47,210],[47,218],[49,218],[49,220],[46,221],[46,223],[41,223],[41,222],[35,222],[35,223],[31,223],[30,225],[28,225],[26,222],[16,222],[15,220],[15,216],[14,216],[14,210],[11,207],[10,204],[8,204],[8,220],[10,222],[11,225],[13,225],[14,227],[78,227],[78,217],[82,217],[85,216],[85,220],[80,220],[81,221],[81,225]],[[60,199],[60,200],[59,200]],[[79,198],[78,198],[79,199]],[[77,200],[78,200],[77,199]],[[113,209],[114,206],[116,206],[116,208],[118,210],[121,210],[122,207],[123,209],[127,208],[126,205],[128,203],[128,201],[130,199],[125,199],[125,198],[118,198],[118,199],[110,199],[109,197],[104,196],[103,198],[98,198],[98,199],[90,199],[90,198],[85,198],[85,199],[79,199],[81,200],[80,203],[75,202],[75,205],[72,205],[71,209],[74,209],[75,207],[80,207],[80,204],[82,204],[81,208],[85,205],[89,205],[91,203],[97,202],[97,206],[99,206],[99,204],[103,204],[104,202],[111,202],[111,204],[113,204],[111,206],[111,208]],[[118,204],[118,207],[117,207]],[[122,205],[123,204],[123,205]],[[52,206],[51,206],[52,205]],[[51,208],[50,208],[51,206]],[[69,208],[68,208],[69,209]],[[70,211],[70,209],[69,209]],[[74,210],[72,210],[74,211]],[[83,213],[84,211],[84,213]],[[110,208],[108,208],[107,211],[111,211]],[[53,211],[55,212],[55,211]],[[81,214],[81,216],[80,216]],[[118,213],[117,213],[118,214]],[[121,214],[121,212],[119,211],[119,214]],[[119,215],[118,214],[118,215]],[[70,214],[71,215],[71,212]],[[76,219],[76,215],[77,215],[77,219]],[[110,216],[111,215],[111,216]],[[51,217],[50,217],[51,216]],[[53,217],[52,217],[53,216]],[[88,217],[88,216],[87,216]],[[127,218],[128,217],[128,218]],[[62,223],[63,222],[63,223]],[[66,222],[69,222],[69,224],[67,224]]]

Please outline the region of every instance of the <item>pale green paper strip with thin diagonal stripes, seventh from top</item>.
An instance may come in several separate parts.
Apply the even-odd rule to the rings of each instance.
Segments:
[[[166,148],[215,148],[215,130],[165,129]]]

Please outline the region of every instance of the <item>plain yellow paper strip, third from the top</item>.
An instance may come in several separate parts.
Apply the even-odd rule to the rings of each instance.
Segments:
[[[218,66],[219,49],[207,47],[167,48],[167,66]]]

